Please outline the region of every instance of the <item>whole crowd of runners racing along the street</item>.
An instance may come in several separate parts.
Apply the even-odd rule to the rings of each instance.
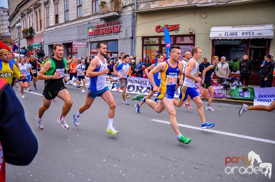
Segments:
[[[53,54],[50,58],[46,56],[45,60],[40,64],[33,55],[24,58],[15,59],[14,55],[7,50],[0,50],[1,64],[6,65],[5,69],[11,70],[11,75],[7,74],[4,78],[11,86],[17,87],[17,81],[21,89],[21,98],[24,96],[24,88],[27,91],[31,91],[30,80],[34,84],[34,90],[37,90],[36,81],[44,81],[43,90],[43,104],[39,108],[38,116],[36,117],[37,126],[40,129],[44,128],[42,122],[42,116],[44,112],[50,107],[51,102],[56,97],[64,101],[61,115],[58,117],[57,122],[62,125],[64,129],[69,129],[66,123],[66,116],[72,107],[72,98],[68,92],[65,84],[72,80],[76,82],[76,88],[80,88],[82,85],[82,91],[85,93],[85,76],[90,78],[90,85],[87,91],[85,103],[79,107],[79,109],[73,114],[74,125],[79,126],[79,120],[81,114],[90,108],[96,97],[101,97],[109,105],[108,113],[108,125],[107,133],[118,134],[118,131],[113,127],[113,120],[115,115],[116,103],[113,95],[106,85],[107,75],[112,74],[118,79],[118,85],[122,90],[122,104],[129,105],[125,98],[130,96],[126,94],[127,90],[127,77],[132,76],[132,71],[138,72],[139,66],[134,66],[132,56],[121,53],[120,57],[116,61],[107,60],[107,45],[103,42],[97,44],[97,56],[91,59],[87,58],[70,58],[64,59],[64,48],[61,43],[56,43],[53,46]],[[166,54],[160,54],[156,51],[156,57],[154,62],[150,65],[144,65],[143,72],[148,76],[151,82],[151,90],[149,94],[144,97],[143,94],[138,94],[132,98],[139,103],[135,104],[135,110],[140,114],[140,107],[146,103],[157,113],[161,113],[163,110],[167,110],[170,118],[170,124],[174,130],[177,139],[180,143],[188,144],[191,138],[182,135],[178,129],[178,122],[176,120],[176,110],[174,106],[181,107],[186,106],[188,109],[192,109],[190,106],[190,100],[192,99],[197,105],[197,111],[201,119],[201,128],[212,128],[214,123],[207,122],[205,119],[203,102],[196,90],[199,88],[203,97],[207,97],[209,92],[210,97],[208,100],[207,111],[215,111],[210,107],[213,98],[213,89],[211,82],[217,83],[217,80],[213,79],[213,73],[215,72],[215,65],[218,63],[218,57],[212,58],[211,64],[207,64],[204,68],[202,77],[198,76],[199,64],[198,60],[202,57],[202,50],[196,46],[192,48],[191,52],[184,53],[184,59],[182,58],[182,52],[180,46],[173,45],[169,51],[170,58],[166,57]],[[117,57],[118,55],[116,55]],[[206,59],[206,58],[205,58]],[[87,64],[87,62],[89,64]],[[207,62],[207,60],[206,60]],[[110,72],[110,63],[113,63],[112,71]],[[139,60],[140,63],[140,60]],[[144,63],[144,64],[149,64]],[[206,64],[206,63],[205,63]],[[41,70],[37,74],[37,66],[41,67]],[[134,67],[134,68],[133,68]],[[69,71],[70,78],[67,78],[65,73]],[[81,82],[82,81],[82,82]],[[178,100],[174,99],[175,91],[180,87],[180,95]],[[157,94],[154,100],[150,98]],[[186,103],[184,103],[186,101]],[[270,106],[247,106],[243,104],[239,111],[239,116],[248,110],[267,110],[272,111],[275,109],[275,99]]]

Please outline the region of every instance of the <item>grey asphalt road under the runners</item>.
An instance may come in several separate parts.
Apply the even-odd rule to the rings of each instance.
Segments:
[[[42,94],[42,80],[38,81],[37,88],[34,91],[32,85],[32,92]],[[39,147],[30,165],[6,165],[7,182],[275,181],[274,111],[249,111],[239,117],[239,104],[213,102],[211,107],[215,111],[205,111],[207,121],[216,124],[209,129],[214,132],[210,132],[200,129],[199,115],[191,101],[192,110],[184,106],[176,108],[180,132],[192,138],[185,145],[178,143],[166,110],[158,114],[144,104],[141,114],[137,114],[134,106],[137,101],[127,99],[129,106],[123,105],[118,92],[112,94],[117,104],[114,127],[119,134],[106,133],[109,108],[101,98],[81,115],[80,126],[76,127],[72,115],[84,103],[86,94],[72,85],[67,88],[73,99],[66,116],[68,130],[57,122],[64,104],[62,100],[56,98],[56,102],[52,102],[42,118],[44,129],[40,130],[36,116],[42,96],[26,92],[22,99],[20,91],[15,90]],[[131,94],[131,98],[133,96]],[[203,101],[204,108],[206,105]],[[247,157],[250,151],[261,159],[259,164],[255,159],[254,171],[247,169],[242,159],[232,158]],[[266,163],[273,164],[271,179],[257,171],[265,172],[262,166]],[[259,165],[261,167],[256,168]],[[235,167],[233,174],[232,167]]]

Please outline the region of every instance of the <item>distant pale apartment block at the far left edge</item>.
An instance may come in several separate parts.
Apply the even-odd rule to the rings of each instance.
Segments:
[[[9,9],[0,7],[0,35],[11,35],[9,32]]]

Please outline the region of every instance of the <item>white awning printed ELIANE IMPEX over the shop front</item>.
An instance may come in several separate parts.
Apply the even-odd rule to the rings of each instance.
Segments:
[[[273,39],[274,24],[212,27],[209,39]]]

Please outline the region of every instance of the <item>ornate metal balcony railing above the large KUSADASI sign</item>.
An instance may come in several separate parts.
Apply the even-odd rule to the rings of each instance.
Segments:
[[[122,2],[119,0],[111,0],[110,2],[99,5],[99,15],[107,13],[121,13],[122,12]]]

